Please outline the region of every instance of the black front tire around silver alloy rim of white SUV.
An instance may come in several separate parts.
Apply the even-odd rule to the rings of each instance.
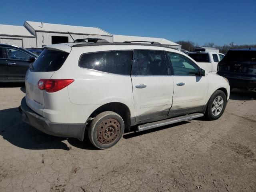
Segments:
[[[212,112],[212,108],[214,106],[214,100],[216,100],[216,98],[222,98],[223,99],[223,106],[222,106],[222,110],[219,112],[219,114],[214,115]],[[226,104],[227,104],[227,98],[225,93],[222,90],[216,90],[212,96],[210,97],[208,104],[207,104],[207,108],[206,111],[204,113],[204,116],[206,118],[206,120],[216,120],[218,118],[220,118],[220,116],[222,116],[225,108],[226,108]]]

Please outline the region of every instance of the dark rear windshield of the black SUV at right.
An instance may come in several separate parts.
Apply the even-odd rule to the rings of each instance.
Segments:
[[[228,51],[221,62],[256,62],[256,51]]]

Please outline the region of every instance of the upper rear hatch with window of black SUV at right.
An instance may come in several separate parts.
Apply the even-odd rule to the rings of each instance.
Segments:
[[[230,50],[218,64],[218,74],[230,78],[256,77],[256,50]]]

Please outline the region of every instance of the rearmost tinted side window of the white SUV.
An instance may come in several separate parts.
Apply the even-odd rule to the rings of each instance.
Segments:
[[[105,51],[83,54],[80,67],[119,75],[130,75],[132,51]]]

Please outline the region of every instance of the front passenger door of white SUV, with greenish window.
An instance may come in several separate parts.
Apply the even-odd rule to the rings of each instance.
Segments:
[[[208,80],[200,76],[200,68],[187,57],[168,52],[173,69],[174,94],[171,114],[203,108],[208,92]]]

